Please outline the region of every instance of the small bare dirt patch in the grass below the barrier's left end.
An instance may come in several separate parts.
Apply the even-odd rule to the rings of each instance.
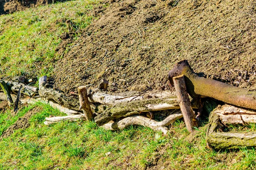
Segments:
[[[29,127],[29,119],[31,118],[31,116],[38,113],[39,111],[41,111],[41,108],[33,108],[32,110],[28,111],[24,116],[18,118],[13,125],[8,127],[8,129],[3,132],[1,138],[6,138],[10,136],[17,129],[26,129],[27,127]]]

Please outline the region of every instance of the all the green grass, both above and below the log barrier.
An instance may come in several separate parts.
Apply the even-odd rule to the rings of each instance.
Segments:
[[[87,10],[94,1],[74,0],[42,6],[0,16],[0,72],[14,76],[32,71],[34,62],[41,62],[35,75],[50,74],[51,61],[58,56],[55,48],[59,36],[67,32],[70,19],[77,30],[86,27],[92,17]],[[75,37],[76,38],[76,37]],[[48,105],[23,108],[16,116],[0,113],[0,133],[33,107],[43,111],[31,118],[26,130],[0,141],[2,169],[143,169],[160,164],[165,169],[253,169],[255,150],[242,148],[213,151],[206,148],[205,131],[198,131],[198,140],[187,142],[183,122],[172,125],[172,133],[162,136],[145,127],[129,127],[110,132],[90,122],[61,122],[49,127],[44,117],[61,115]],[[108,156],[105,153],[111,152]]]

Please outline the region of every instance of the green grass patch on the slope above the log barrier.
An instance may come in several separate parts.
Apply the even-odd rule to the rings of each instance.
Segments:
[[[60,36],[70,32],[65,23],[72,22],[74,39],[94,19],[87,14],[98,0],[73,0],[55,3],[14,14],[0,16],[1,77],[50,75]],[[71,45],[71,44],[70,44]]]

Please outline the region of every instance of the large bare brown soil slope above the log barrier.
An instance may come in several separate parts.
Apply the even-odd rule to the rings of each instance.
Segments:
[[[255,9],[254,0],[105,0],[80,38],[63,40],[72,46],[55,64],[55,87],[70,93],[105,78],[109,90],[168,90],[183,59],[204,77],[255,87]]]

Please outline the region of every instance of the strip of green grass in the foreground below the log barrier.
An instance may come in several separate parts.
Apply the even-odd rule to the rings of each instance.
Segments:
[[[130,126],[111,132],[93,122],[60,122],[44,125],[49,115],[64,115],[49,105],[37,103],[23,108],[17,115],[40,107],[31,117],[29,128],[15,130],[0,141],[1,169],[144,169],[159,165],[165,169],[253,169],[256,164],[254,148],[214,151],[206,147],[206,126],[197,129],[195,141],[188,142],[189,134],[182,121],[172,124],[171,132],[159,132]],[[17,116],[10,111],[0,113],[0,119],[9,117],[12,125]],[[6,123],[0,123],[6,129]],[[110,154],[106,154],[110,152]]]

